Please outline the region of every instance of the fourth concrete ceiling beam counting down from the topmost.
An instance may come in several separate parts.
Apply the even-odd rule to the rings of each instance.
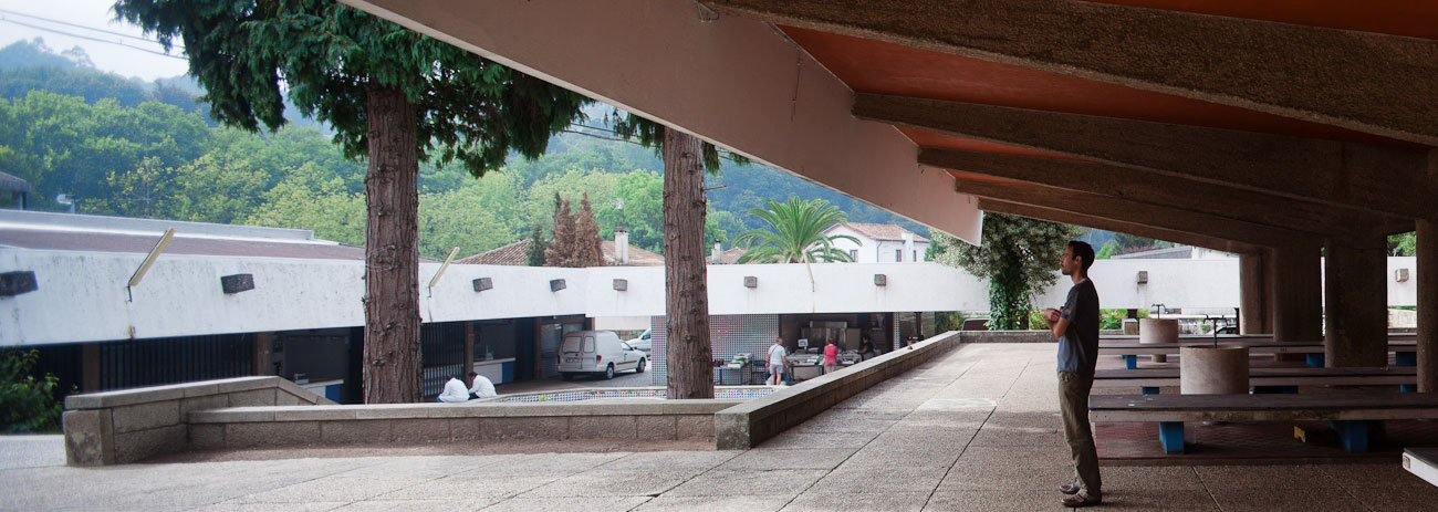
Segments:
[[[1173,232],[1199,233],[1254,246],[1304,244],[1322,240],[1322,237],[1313,234],[1257,224],[1245,220],[1225,219],[1206,213],[1135,203],[1054,187],[994,183],[972,178],[956,178],[955,186],[959,191],[971,196],[1084,213],[1094,217],[1148,224]]]

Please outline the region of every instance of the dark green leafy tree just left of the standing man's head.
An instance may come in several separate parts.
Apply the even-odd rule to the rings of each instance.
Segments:
[[[933,232],[933,260],[989,282],[989,329],[1021,329],[1032,298],[1057,282],[1058,257],[1081,229],[998,213],[984,214],[981,246]],[[1038,324],[1044,325],[1044,324]]]

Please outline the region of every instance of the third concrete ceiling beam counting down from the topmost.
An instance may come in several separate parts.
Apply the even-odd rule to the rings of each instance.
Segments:
[[[1252,190],[1081,160],[922,148],[919,164],[1145,204],[1168,206],[1314,234],[1372,233],[1395,217],[1288,200]],[[1409,221],[1411,224],[1411,221]]]

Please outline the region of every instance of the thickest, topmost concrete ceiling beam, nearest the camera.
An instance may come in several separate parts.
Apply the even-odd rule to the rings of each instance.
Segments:
[[[777,24],[1438,145],[1438,40],[1089,1],[700,1]]]

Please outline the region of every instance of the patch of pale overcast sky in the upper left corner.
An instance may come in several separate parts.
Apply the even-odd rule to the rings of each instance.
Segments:
[[[10,46],[10,43],[17,40],[40,37],[55,52],[79,46],[85,49],[85,53],[89,53],[91,60],[95,62],[95,68],[122,76],[139,76],[152,81],[184,75],[186,60],[178,50],[173,56],[154,55],[144,50],[164,52],[160,43],[145,43],[119,36],[144,37],[145,35],[134,24],[116,22],[115,13],[111,12],[111,6],[114,4],[114,0],[0,0],[0,47]],[[32,14],[104,32],[65,26],[20,14]],[[104,42],[73,37],[53,30],[33,29],[19,23],[42,26],[69,35],[82,35]]]

